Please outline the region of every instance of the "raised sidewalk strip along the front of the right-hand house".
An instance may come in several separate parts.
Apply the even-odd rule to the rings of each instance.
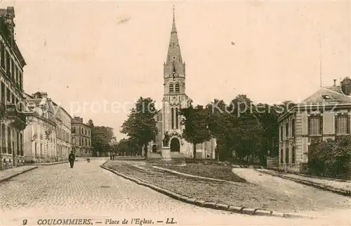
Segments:
[[[332,180],[331,178],[315,178],[310,176],[288,174],[288,173],[279,173],[277,171],[272,171],[269,169],[256,169],[256,171],[270,174],[272,176],[279,176],[281,178],[289,179],[291,181],[296,181],[298,183],[305,183],[306,185],[312,185],[317,188],[324,190],[329,190],[331,192],[336,192],[342,195],[351,195],[351,181],[339,181]]]

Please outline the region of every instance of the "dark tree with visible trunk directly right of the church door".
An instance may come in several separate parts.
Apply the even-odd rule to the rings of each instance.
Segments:
[[[211,139],[211,133],[208,129],[208,111],[200,105],[195,108],[189,106],[181,109],[180,115],[184,116],[182,120],[182,125],[185,125],[183,137],[185,141],[193,145],[193,159],[195,162],[197,144]]]

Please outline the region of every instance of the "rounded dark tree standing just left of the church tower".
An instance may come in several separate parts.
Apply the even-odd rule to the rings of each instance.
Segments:
[[[131,109],[128,119],[121,126],[121,133],[127,134],[131,141],[138,146],[143,147],[145,158],[147,158],[147,145],[152,141],[157,133],[157,122],[154,119],[157,115],[155,102],[150,97],[140,97]]]

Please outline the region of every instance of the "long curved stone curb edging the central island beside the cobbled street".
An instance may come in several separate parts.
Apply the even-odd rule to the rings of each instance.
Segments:
[[[209,209],[218,209],[221,211],[229,211],[232,213],[241,213],[241,214],[254,215],[254,216],[274,216],[274,217],[280,217],[280,218],[311,218],[311,217],[307,217],[307,216],[297,216],[297,215],[286,214],[286,213],[278,213],[278,212],[264,210],[264,209],[249,209],[246,207],[232,206],[232,205],[220,204],[220,203],[216,203],[216,202],[205,202],[201,199],[187,197],[185,195],[181,195],[181,194],[178,194],[176,192],[166,190],[164,188],[159,188],[157,185],[153,185],[153,184],[147,183],[145,181],[141,181],[139,179],[135,179],[135,178],[132,178],[130,176],[126,176],[126,175],[121,174],[117,171],[114,171],[113,169],[105,167],[104,164],[100,165],[100,167],[102,169],[106,169],[106,170],[112,172],[113,174],[117,174],[118,176],[126,178],[129,181],[133,181],[133,182],[137,183],[138,185],[143,185],[147,188],[151,188],[152,190],[156,190],[157,192],[160,192],[164,195],[167,195],[168,197],[171,197],[173,199],[177,199],[181,202],[186,202],[188,204],[194,204],[196,206],[201,206],[201,207],[209,208]]]

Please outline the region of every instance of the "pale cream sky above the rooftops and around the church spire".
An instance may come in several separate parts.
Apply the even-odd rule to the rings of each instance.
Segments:
[[[161,107],[173,5],[194,104],[237,94],[298,102],[319,88],[321,74],[324,86],[350,76],[348,1],[2,1],[0,8],[15,7],[25,92],[47,92],[121,139],[138,97]]]

